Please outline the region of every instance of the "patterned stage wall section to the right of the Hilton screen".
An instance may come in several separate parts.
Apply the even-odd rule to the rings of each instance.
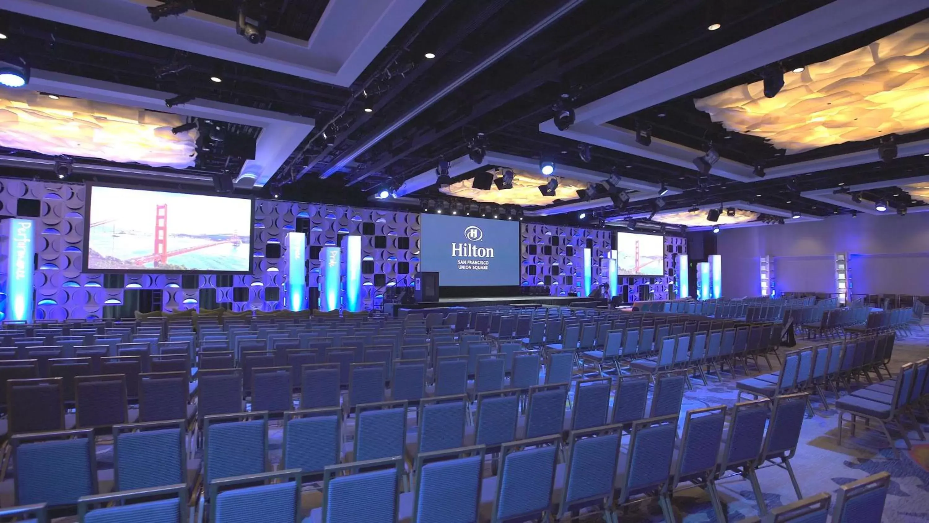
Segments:
[[[612,247],[612,230],[580,229],[542,224],[522,224],[522,264],[520,277],[523,285],[549,285],[551,294],[564,296],[570,291],[583,294],[583,250],[590,247],[594,284],[609,280],[608,268],[599,260],[606,259]],[[618,294],[625,287],[629,290],[629,301],[649,299],[640,296],[640,285],[650,285],[650,299],[669,299],[668,286],[677,274],[677,257],[674,254],[687,252],[687,240],[673,236],[664,237],[664,277],[623,278],[620,277]],[[593,290],[593,287],[592,287]]]

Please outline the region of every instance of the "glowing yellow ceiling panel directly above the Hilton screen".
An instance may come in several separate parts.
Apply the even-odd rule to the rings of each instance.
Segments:
[[[466,179],[455,182],[447,188],[439,190],[450,196],[459,196],[468,198],[480,203],[498,203],[513,205],[548,205],[560,200],[568,202],[578,198],[577,190],[586,189],[586,182],[579,182],[568,178],[558,177],[558,187],[555,190],[555,196],[543,196],[539,191],[540,185],[545,185],[549,177],[535,175],[526,171],[510,169],[513,171],[513,189],[498,190],[496,185],[491,186],[491,190],[479,190],[471,187],[473,179]],[[502,171],[493,169],[494,177],[500,177]]]

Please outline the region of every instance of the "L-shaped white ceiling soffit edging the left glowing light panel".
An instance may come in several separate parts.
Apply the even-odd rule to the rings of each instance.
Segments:
[[[281,168],[290,154],[309,134],[316,122],[312,118],[303,118],[242,107],[228,103],[194,98],[188,103],[168,109],[164,106],[166,98],[172,93],[152,89],[112,84],[70,74],[33,70],[29,88],[57,95],[84,98],[106,102],[124,107],[147,109],[150,111],[170,112],[183,116],[192,116],[228,122],[229,124],[260,127],[261,133],[255,141],[255,159],[246,160],[237,177],[241,187],[261,187]]]

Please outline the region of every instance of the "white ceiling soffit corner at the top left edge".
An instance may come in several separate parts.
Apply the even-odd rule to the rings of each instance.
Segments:
[[[152,21],[157,0],[4,0],[3,8],[100,33],[347,87],[425,0],[330,0],[309,40],[268,32],[253,45],[235,22],[190,10]],[[229,2],[234,14],[234,3]]]

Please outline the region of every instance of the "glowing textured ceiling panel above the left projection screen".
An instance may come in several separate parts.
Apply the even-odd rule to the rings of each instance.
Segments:
[[[185,122],[177,114],[0,88],[0,146],[49,156],[190,167],[197,131],[171,132]]]

